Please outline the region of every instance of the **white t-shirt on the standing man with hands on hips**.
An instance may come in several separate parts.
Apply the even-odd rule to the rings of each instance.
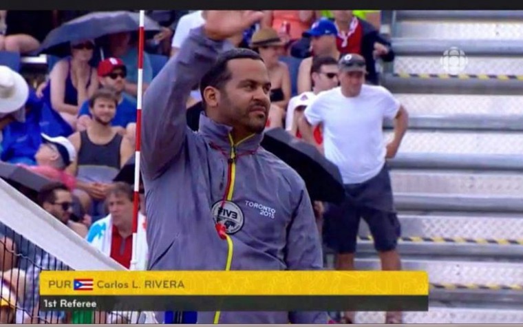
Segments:
[[[336,87],[319,94],[305,109],[311,125],[323,123],[325,157],[338,166],[343,183],[376,176],[385,164],[384,118],[395,118],[400,103],[385,87],[363,85],[359,96]]]

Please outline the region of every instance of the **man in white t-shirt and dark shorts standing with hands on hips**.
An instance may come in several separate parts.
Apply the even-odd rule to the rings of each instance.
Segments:
[[[387,158],[394,158],[407,131],[408,114],[381,86],[364,85],[365,59],[347,54],[339,61],[340,87],[322,92],[299,122],[303,138],[314,144],[312,127],[323,124],[325,157],[341,172],[347,198],[325,212],[325,242],[337,252],[338,270],[354,269],[361,218],[367,222],[382,269],[401,270],[396,251],[401,226],[394,209]],[[384,118],[394,119],[394,139],[385,145]],[[345,313],[348,322],[353,313]],[[352,320],[352,321],[350,321]],[[387,313],[387,324],[401,323],[401,313]]]

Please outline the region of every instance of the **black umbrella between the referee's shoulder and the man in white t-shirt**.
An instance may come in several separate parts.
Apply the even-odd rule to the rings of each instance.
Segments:
[[[265,132],[261,146],[286,162],[305,180],[312,200],[340,203],[345,199],[341,173],[313,145],[277,127]]]

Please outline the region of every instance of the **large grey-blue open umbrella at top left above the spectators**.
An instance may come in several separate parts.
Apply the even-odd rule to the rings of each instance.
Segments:
[[[149,17],[145,17],[146,32],[159,32],[160,25]],[[87,39],[98,39],[101,36],[120,32],[138,32],[140,15],[138,12],[110,11],[91,12],[68,21],[52,30],[43,40],[39,54],[63,54],[70,42]]]

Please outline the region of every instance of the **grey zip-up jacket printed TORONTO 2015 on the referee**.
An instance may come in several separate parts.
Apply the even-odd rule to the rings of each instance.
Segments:
[[[233,148],[228,140],[231,127],[206,116],[198,133],[186,126],[191,87],[228,46],[206,39],[202,28],[192,30],[145,93],[141,164],[149,270],[225,270],[228,242],[218,236],[215,219],[224,223],[233,240],[231,270],[322,269],[319,233],[305,184],[293,169],[259,147],[263,135]],[[229,160],[232,152],[235,160]],[[222,202],[226,196],[232,196],[230,202]],[[198,323],[212,324],[214,314],[198,313]],[[223,312],[220,316],[220,324],[289,321],[325,324],[328,315]]]

